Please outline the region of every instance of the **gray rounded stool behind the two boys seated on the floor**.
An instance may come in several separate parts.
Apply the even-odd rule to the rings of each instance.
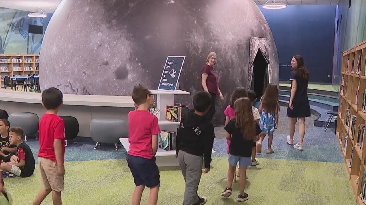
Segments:
[[[27,136],[36,136],[40,119],[38,115],[30,112],[14,112],[8,117],[11,127],[21,127],[24,130],[25,139]]]

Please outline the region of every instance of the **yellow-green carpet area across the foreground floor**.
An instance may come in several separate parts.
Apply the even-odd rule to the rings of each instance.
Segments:
[[[258,158],[259,159],[259,158]],[[354,205],[350,181],[344,163],[300,160],[259,159],[260,165],[248,170],[246,192],[251,205]],[[200,196],[208,197],[207,205],[238,204],[239,184],[233,186],[230,199],[222,199],[226,186],[227,158],[213,158],[213,168],[202,175]],[[134,183],[126,160],[66,162],[63,205],[129,205]],[[161,171],[158,204],[181,205],[184,181],[179,170]],[[33,202],[41,187],[38,166],[29,178],[5,178],[14,205]],[[146,204],[148,189],[142,203]],[[43,205],[52,204],[50,194]]]

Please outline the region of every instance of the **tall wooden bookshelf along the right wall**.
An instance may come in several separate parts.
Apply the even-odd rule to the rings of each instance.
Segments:
[[[336,135],[356,204],[366,204],[366,41],[342,55]]]

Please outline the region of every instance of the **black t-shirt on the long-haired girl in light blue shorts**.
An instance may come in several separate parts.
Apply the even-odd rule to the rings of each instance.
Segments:
[[[234,156],[251,157],[251,151],[253,147],[253,140],[245,140],[242,132],[235,126],[236,119],[232,119],[225,126],[225,130],[231,134],[231,143],[229,147],[229,153]],[[259,135],[262,130],[258,123],[255,123],[256,130],[255,135]]]

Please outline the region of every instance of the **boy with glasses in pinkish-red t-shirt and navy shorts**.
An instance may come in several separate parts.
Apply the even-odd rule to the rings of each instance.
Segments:
[[[155,154],[158,149],[160,128],[158,119],[148,110],[153,103],[153,94],[143,86],[135,86],[132,91],[137,109],[128,113],[127,164],[134,177],[135,190],[132,205],[140,205],[145,186],[150,188],[149,205],[156,205],[160,184],[160,175],[156,166]]]

